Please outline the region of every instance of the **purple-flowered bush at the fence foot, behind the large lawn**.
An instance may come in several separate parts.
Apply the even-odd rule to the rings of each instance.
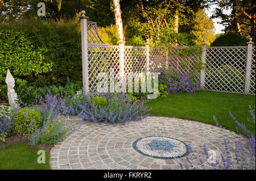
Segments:
[[[181,74],[173,68],[161,69],[159,73],[160,94],[166,94],[166,92],[168,94],[179,94],[200,90],[200,83],[193,74]]]

